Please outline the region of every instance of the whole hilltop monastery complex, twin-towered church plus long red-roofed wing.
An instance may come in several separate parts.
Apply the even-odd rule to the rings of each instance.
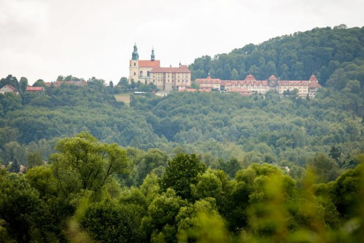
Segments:
[[[294,89],[300,97],[312,98],[315,96],[318,88],[316,76],[313,74],[309,80],[280,80],[271,75],[267,80],[256,80],[251,74],[247,75],[244,80],[220,80],[211,78],[210,74],[206,78],[196,79],[199,90],[191,87],[191,71],[186,65],[180,65],[178,68],[163,68],[160,66],[160,60],[155,60],[154,49],[151,51],[150,60],[139,60],[138,49],[134,45],[132,59],[129,62],[129,82],[134,81],[145,84],[153,83],[160,92],[157,95],[165,96],[173,90],[178,91],[204,91],[220,90],[226,92],[238,92],[241,95],[251,95],[253,93],[265,94],[268,91],[276,90],[281,95],[289,94]]]

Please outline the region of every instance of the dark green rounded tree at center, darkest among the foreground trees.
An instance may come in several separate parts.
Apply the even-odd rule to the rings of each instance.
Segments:
[[[183,199],[192,200],[190,185],[198,182],[198,174],[206,171],[206,166],[195,154],[179,154],[168,161],[168,167],[160,181],[163,191],[168,188],[176,191]]]

